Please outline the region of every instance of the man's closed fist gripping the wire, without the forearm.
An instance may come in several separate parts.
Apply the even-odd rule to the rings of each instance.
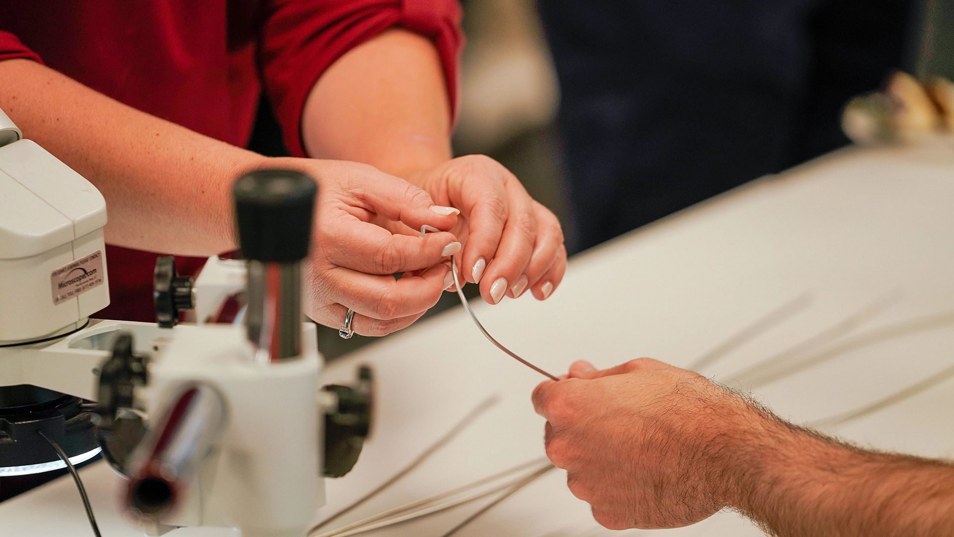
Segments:
[[[584,361],[533,392],[547,455],[611,529],[687,526],[729,503],[719,458],[754,409],[706,378],[650,358],[606,371]]]

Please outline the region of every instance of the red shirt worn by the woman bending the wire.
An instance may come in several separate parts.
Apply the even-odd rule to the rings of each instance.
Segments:
[[[312,86],[342,54],[393,26],[433,40],[455,102],[460,17],[456,0],[0,2],[0,61],[42,61],[138,110],[239,147],[264,91],[285,146],[304,157],[301,109]],[[96,316],[155,321],[158,255],[108,246],[111,304]],[[178,267],[195,273],[203,262],[183,257]]]

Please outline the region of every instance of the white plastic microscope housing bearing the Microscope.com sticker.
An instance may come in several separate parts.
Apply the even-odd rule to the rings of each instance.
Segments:
[[[93,183],[31,140],[0,147],[0,344],[69,332],[109,306],[105,225]],[[57,297],[54,272],[95,252],[102,283]]]

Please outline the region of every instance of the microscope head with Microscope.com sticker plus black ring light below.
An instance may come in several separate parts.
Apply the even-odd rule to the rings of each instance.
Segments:
[[[72,462],[98,453],[83,401],[44,385],[69,374],[59,368],[24,380],[24,364],[34,362],[22,356],[81,330],[109,305],[105,225],[106,202],[93,184],[23,140],[0,111],[0,477],[65,465],[37,431]]]

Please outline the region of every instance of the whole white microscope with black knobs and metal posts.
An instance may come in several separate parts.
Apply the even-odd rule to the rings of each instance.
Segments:
[[[302,537],[368,434],[370,370],[319,384],[302,323],[315,182],[259,170],[233,189],[245,261],[195,280],[156,266],[158,325],[90,319],[109,305],[106,203],[0,111],[0,477],[102,453],[131,518],[243,537]],[[196,324],[178,324],[195,309]],[[327,434],[325,434],[327,431]]]

